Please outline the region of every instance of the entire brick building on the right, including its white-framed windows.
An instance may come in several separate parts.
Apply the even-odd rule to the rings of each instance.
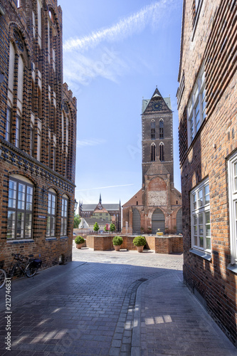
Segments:
[[[237,4],[184,0],[179,147],[184,280],[236,344]]]

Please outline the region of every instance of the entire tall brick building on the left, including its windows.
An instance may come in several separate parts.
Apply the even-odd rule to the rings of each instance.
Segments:
[[[72,255],[76,100],[56,0],[1,0],[0,260]]]

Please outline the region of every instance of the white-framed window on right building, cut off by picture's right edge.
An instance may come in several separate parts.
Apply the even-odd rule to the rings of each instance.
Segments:
[[[237,153],[228,160],[231,264],[237,264]]]

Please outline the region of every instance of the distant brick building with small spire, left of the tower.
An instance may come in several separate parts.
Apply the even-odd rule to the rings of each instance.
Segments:
[[[121,204],[102,204],[101,194],[98,204],[79,203],[79,215],[86,221],[86,218],[103,219],[121,231]]]

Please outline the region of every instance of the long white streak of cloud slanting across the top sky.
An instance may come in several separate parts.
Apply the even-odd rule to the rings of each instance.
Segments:
[[[171,10],[174,6],[174,0],[160,0],[154,4],[145,6],[131,16],[121,19],[115,25],[108,28],[101,28],[100,30],[91,33],[88,36],[81,38],[70,38],[63,45],[64,52],[74,51],[75,49],[87,51],[89,48],[98,46],[102,41],[115,42],[123,38],[132,36],[134,33],[139,33],[144,30],[146,26],[157,26],[157,22],[162,19],[164,22],[164,12],[167,9]],[[167,14],[166,14],[167,16]]]

